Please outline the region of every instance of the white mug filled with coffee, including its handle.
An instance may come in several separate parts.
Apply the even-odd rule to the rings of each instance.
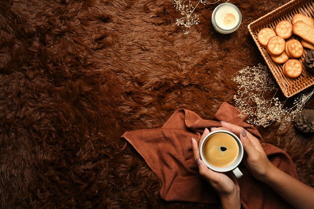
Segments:
[[[243,145],[230,131],[210,132],[201,142],[200,154],[204,163],[212,170],[233,171],[237,178],[243,175],[237,168],[243,158]]]

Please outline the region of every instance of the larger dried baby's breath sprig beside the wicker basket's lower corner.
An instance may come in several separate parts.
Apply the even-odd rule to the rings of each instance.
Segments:
[[[233,75],[238,84],[238,94],[234,95],[240,117],[246,115],[252,125],[266,127],[272,122],[280,122],[280,129],[300,113],[305,103],[314,94],[314,87],[299,95],[291,108],[284,107],[287,99],[281,102],[275,97],[278,89],[266,66],[246,67]],[[271,99],[266,99],[271,97]]]

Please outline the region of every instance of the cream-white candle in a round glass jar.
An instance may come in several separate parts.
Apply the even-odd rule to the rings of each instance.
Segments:
[[[216,7],[212,15],[212,23],[219,33],[232,33],[240,26],[242,17],[240,10],[229,3]]]

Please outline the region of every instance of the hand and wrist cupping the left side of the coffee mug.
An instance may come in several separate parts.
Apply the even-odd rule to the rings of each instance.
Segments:
[[[209,133],[206,128],[201,136],[200,142]],[[197,141],[192,138],[192,148],[194,159],[199,166],[200,174],[210,183],[210,185],[217,191],[222,208],[240,208],[240,188],[236,177],[231,173],[219,173],[209,169],[200,159],[200,151]]]

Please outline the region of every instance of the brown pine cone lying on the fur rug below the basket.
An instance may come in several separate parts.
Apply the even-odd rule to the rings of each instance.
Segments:
[[[314,132],[314,110],[303,109],[301,113],[294,118],[294,126],[304,133]]]

